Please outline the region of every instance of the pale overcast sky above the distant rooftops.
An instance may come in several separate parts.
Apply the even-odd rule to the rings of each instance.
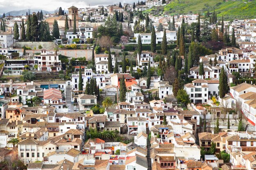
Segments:
[[[74,5],[77,8],[85,8],[96,5],[108,5],[115,3],[134,2],[136,0],[0,0],[0,13],[19,11],[23,9],[43,9],[54,11],[58,7],[67,9]],[[136,1],[137,2],[137,1]]]

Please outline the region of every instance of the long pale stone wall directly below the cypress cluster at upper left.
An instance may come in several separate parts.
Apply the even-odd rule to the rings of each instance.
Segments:
[[[41,45],[45,49],[54,49],[55,48],[55,43],[54,42],[15,42],[13,44],[13,48],[15,49],[20,49],[23,46],[30,47],[31,49],[38,49],[38,46]]]

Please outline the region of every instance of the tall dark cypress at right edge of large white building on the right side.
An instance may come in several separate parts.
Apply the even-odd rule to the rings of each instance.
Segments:
[[[227,82],[227,75],[222,66],[219,77],[219,96],[220,98],[225,97],[225,95],[229,92],[229,85]]]

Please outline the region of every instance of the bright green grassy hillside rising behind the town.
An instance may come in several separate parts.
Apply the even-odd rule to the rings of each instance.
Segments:
[[[173,0],[164,7],[153,7],[145,13],[153,15],[177,15],[189,13],[217,12],[218,17],[224,15],[226,20],[256,18],[256,0]]]

